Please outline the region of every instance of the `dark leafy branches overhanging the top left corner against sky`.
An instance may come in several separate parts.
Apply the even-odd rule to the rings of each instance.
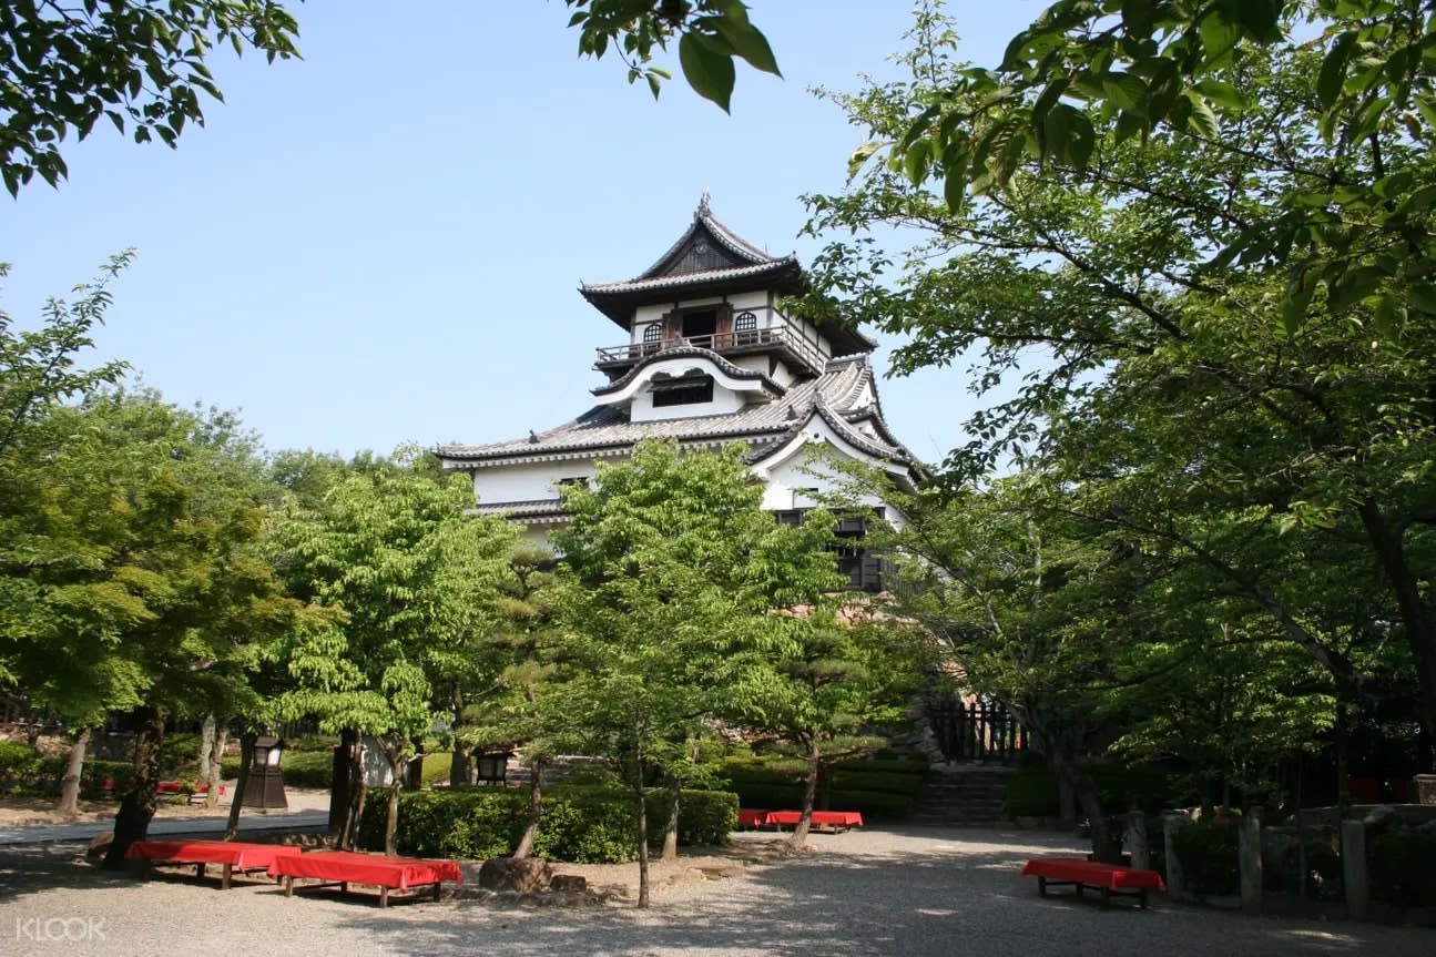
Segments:
[[[274,0],[16,0],[0,9],[0,177],[10,195],[66,175],[59,144],[101,119],[135,142],[174,147],[204,124],[200,93],[224,99],[215,46],[299,56],[299,26]]]

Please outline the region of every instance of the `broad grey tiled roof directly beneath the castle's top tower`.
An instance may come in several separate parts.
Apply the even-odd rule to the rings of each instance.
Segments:
[[[857,448],[918,467],[912,453],[882,424],[880,415],[864,411],[872,407],[856,405],[872,376],[867,356],[847,356],[830,361],[820,376],[793,385],[780,399],[748,405],[740,412],[632,422],[625,410],[600,405],[573,421],[533,433],[527,438],[484,445],[439,445],[437,451],[448,468],[472,468],[620,451],[645,438],[668,438],[681,445],[747,441],[751,447],[748,458],[758,461],[797,434],[813,415],[819,415]],[[853,415],[852,421],[849,415]],[[879,425],[877,437],[866,435],[854,425],[864,420]]]

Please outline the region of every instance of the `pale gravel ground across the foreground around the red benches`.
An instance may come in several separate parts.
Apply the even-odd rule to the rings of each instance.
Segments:
[[[742,842],[780,841],[740,835]],[[1430,957],[1436,931],[1244,917],[1162,897],[1097,908],[1038,898],[1018,877],[1034,854],[1078,851],[1032,832],[869,829],[814,835],[814,852],[665,881],[653,907],[500,907],[465,897],[391,905],[327,891],[286,900],[271,884],[215,889],[192,878],[136,881],[76,864],[75,845],[0,851],[0,954],[302,954],[425,957],[635,954],[847,957]],[[567,871],[569,868],[561,868]],[[636,874],[636,866],[635,866]]]

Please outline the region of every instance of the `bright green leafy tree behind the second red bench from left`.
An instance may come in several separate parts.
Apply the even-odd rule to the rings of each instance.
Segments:
[[[337,619],[296,635],[287,652],[289,716],[313,714],[329,733],[372,736],[389,763],[385,851],[393,854],[398,786],[415,741],[451,720],[435,688],[447,657],[493,627],[497,582],[517,532],[464,514],[471,491],[401,453],[353,471],[319,507],[294,509],[277,530],[292,592]],[[358,762],[340,842],[352,846],[365,800]]]

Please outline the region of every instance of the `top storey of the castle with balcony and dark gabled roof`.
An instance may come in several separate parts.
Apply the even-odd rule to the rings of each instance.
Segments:
[[[778,302],[806,289],[797,256],[770,256],[748,243],[712,214],[707,195],[688,230],[645,272],[626,282],[582,283],[579,289],[628,333],[628,342],[599,349],[595,368],[609,376],[609,387],[595,389],[600,398],[640,366],[675,351],[705,351],[785,387],[820,375],[836,356],[875,348],[854,330],[784,315]],[[669,399],[659,392],[694,397],[696,389],[688,387],[696,385],[665,385],[653,401],[663,408]]]

